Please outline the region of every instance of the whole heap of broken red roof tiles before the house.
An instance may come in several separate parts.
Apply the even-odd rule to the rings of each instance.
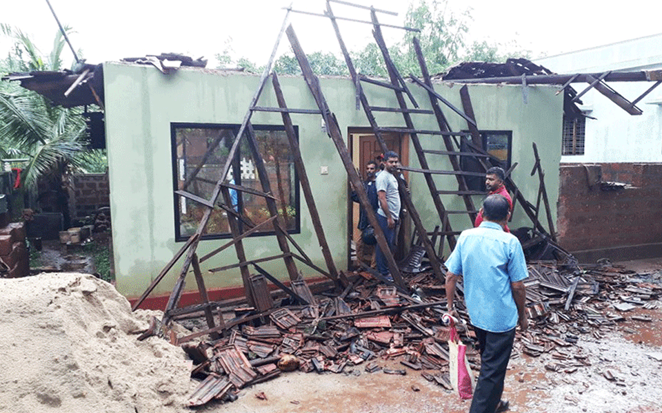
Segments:
[[[618,326],[625,320],[619,314],[624,304],[654,306],[649,300],[662,293],[662,286],[633,282],[614,266],[581,270],[532,262],[529,271],[527,312],[532,322],[525,335],[518,332],[513,357],[550,353],[555,362],[545,367],[558,372],[590,366],[588,356],[579,354],[574,343],[583,335],[599,338],[605,329]],[[408,283],[417,295],[405,295],[359,273],[353,288],[315,295],[310,306],[272,308],[261,313],[261,324],[235,325],[220,339],[183,343],[194,360],[192,377],[200,381],[188,403],[234,401],[239,389],[297,368],[318,373],[347,372],[357,366],[370,373],[414,370],[450,390],[448,329],[440,321],[445,290],[432,273],[410,275]],[[250,310],[236,308],[235,313],[241,319]],[[459,315],[468,319],[462,304]],[[234,321],[226,321],[226,326]],[[474,342],[471,326],[459,326],[459,332],[465,343]],[[398,360],[402,368],[384,368],[382,361],[387,359]],[[479,370],[475,350],[468,359]]]

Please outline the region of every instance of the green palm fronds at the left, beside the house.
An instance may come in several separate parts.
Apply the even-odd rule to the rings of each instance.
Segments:
[[[0,75],[8,72],[61,70],[64,39],[57,32],[54,47],[41,54],[30,37],[2,25],[2,34],[14,42],[3,59]],[[106,169],[105,151],[85,148],[85,123],[80,108],[55,106],[17,83],[0,82],[0,157],[27,158],[25,182],[36,188],[39,178],[64,171]]]

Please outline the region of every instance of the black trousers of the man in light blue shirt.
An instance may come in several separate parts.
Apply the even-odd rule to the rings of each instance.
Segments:
[[[481,352],[481,373],[478,377],[469,413],[494,413],[503,393],[503,379],[515,339],[515,329],[489,332],[474,328]]]

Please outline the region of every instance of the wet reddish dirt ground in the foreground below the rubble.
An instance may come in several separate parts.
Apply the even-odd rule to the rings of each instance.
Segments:
[[[662,268],[662,258],[623,262],[639,273]],[[576,347],[565,351],[583,353],[591,366],[572,373],[553,372],[546,365],[561,362],[550,354],[511,359],[503,398],[513,413],[662,413],[662,302],[658,308],[623,313],[626,321],[601,330],[596,339],[583,335]],[[616,310],[614,310],[615,312]],[[648,315],[652,321],[633,321],[631,315]],[[649,355],[650,354],[650,355]],[[657,359],[655,358],[657,357]],[[563,363],[563,362],[561,362]],[[212,403],[201,412],[285,413],[460,413],[470,401],[430,383],[397,361],[383,366],[404,369],[405,376],[368,373],[364,366],[346,368],[341,374],[283,373],[277,379],[239,392],[233,403]],[[612,380],[605,378],[609,373]],[[434,373],[434,372],[432,372]],[[263,394],[266,399],[257,395]]]

